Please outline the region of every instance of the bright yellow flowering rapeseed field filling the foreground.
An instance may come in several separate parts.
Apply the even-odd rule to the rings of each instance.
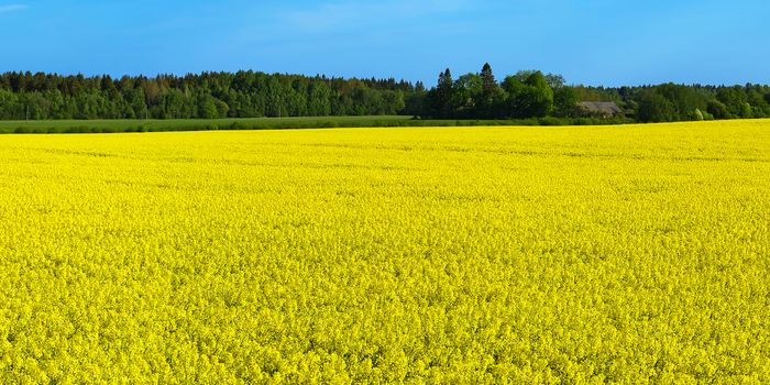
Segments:
[[[770,383],[770,121],[0,136],[0,383]]]

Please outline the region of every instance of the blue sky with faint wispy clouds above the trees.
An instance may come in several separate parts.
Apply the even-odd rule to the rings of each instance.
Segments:
[[[765,0],[0,0],[0,72],[770,84]]]

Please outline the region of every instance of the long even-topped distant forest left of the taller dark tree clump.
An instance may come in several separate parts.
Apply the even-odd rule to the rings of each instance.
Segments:
[[[403,113],[415,86],[255,72],[184,77],[0,75],[0,119],[220,119]]]

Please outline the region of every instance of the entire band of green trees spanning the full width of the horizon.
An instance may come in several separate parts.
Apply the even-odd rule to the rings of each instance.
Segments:
[[[581,107],[612,101],[607,117]],[[217,119],[407,114],[430,119],[612,118],[664,122],[770,117],[770,87],[664,84],[637,87],[566,85],[563,77],[518,72],[498,81],[480,73],[438,84],[344,79],[257,72],[85,77],[0,75],[0,120]]]

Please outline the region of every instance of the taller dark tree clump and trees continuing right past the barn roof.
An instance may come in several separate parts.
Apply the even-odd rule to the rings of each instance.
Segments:
[[[582,108],[581,101],[615,102],[622,110],[615,118],[629,122],[770,118],[768,86],[566,86],[559,75],[534,70],[498,82],[488,64],[458,79],[447,69],[421,102],[407,103],[407,109],[438,119],[608,118],[604,111]]]

